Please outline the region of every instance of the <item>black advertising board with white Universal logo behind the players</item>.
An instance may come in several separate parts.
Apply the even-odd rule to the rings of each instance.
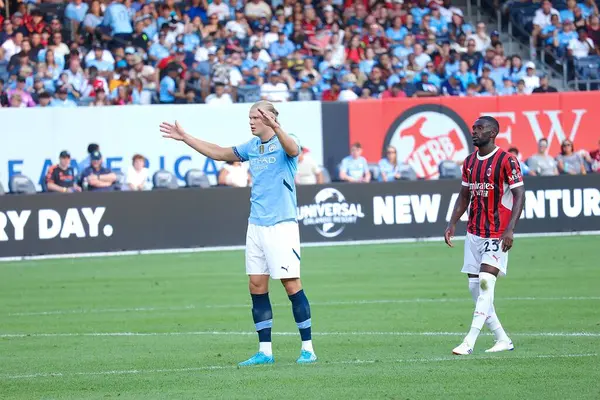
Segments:
[[[600,230],[600,176],[529,178],[517,233]],[[456,180],[299,186],[303,243],[440,237]],[[0,258],[244,245],[249,189],[0,197]],[[457,235],[463,235],[459,224]]]

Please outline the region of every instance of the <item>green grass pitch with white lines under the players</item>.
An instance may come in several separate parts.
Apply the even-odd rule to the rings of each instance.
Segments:
[[[304,248],[315,365],[272,282],[272,366],[243,252],[0,264],[1,399],[599,399],[597,236],[517,238],[496,307],[515,342],[451,350],[473,304],[463,242]]]

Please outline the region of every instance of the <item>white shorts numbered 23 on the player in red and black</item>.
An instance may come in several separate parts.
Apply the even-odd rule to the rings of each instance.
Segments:
[[[465,261],[461,272],[479,275],[481,264],[496,267],[500,270],[500,275],[506,275],[508,252],[502,251],[502,242],[499,239],[485,239],[467,232]]]

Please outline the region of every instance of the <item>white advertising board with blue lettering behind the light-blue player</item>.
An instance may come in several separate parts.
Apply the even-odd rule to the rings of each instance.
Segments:
[[[90,143],[100,145],[107,165],[125,172],[134,154],[148,160],[150,173],[164,168],[183,185],[185,173],[203,170],[216,183],[221,163],[196,153],[180,142],[163,139],[158,126],[175,120],[186,131],[222,146],[248,141],[250,104],[151,105],[85,108],[1,109],[0,182],[8,191],[9,176],[22,173],[40,188],[49,165],[56,164],[62,150],[80,162]],[[321,104],[294,102],[276,104],[279,120],[296,135],[312,157],[323,162]]]

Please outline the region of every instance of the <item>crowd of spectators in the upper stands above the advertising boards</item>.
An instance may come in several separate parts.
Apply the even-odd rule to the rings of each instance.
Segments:
[[[0,0],[3,107],[556,91],[452,0],[38,1]],[[568,4],[542,2],[533,35],[598,54],[594,0]]]

